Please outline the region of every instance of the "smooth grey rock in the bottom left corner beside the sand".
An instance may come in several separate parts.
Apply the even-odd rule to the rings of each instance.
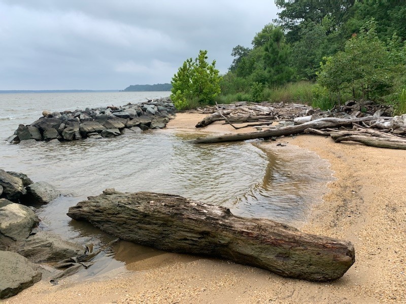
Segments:
[[[0,299],[16,295],[41,280],[41,273],[26,257],[0,251]]]

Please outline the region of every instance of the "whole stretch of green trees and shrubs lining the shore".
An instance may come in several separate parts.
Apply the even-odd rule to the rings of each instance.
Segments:
[[[331,109],[372,100],[406,112],[403,1],[276,0],[278,18],[251,46],[235,46],[224,75],[207,51],[175,74],[178,108],[235,101],[308,103]],[[205,86],[207,84],[207,86]]]

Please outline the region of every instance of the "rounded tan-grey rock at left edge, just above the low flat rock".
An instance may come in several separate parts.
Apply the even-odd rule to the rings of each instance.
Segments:
[[[22,241],[39,222],[40,219],[29,207],[0,199],[0,234]]]

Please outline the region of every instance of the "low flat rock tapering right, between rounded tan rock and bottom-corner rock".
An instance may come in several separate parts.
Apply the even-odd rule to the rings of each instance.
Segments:
[[[39,231],[28,237],[18,253],[35,263],[57,262],[82,254],[83,247],[50,232]]]

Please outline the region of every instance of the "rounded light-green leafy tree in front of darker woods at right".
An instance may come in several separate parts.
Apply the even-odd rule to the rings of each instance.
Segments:
[[[326,59],[318,73],[318,83],[339,96],[351,91],[353,97],[376,98],[388,92],[393,81],[393,61],[379,40],[375,22],[368,23],[345,45],[343,52]]]

